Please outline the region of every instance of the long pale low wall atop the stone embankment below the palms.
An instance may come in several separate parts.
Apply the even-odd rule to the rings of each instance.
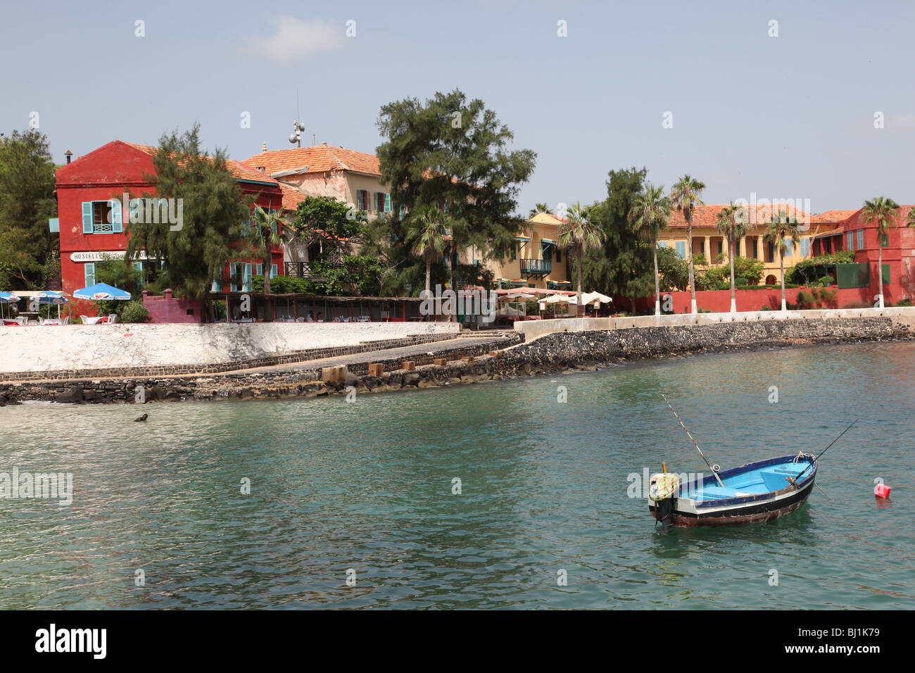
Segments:
[[[756,310],[737,313],[675,313],[666,316],[634,316],[632,318],[565,318],[559,320],[523,320],[514,323],[515,331],[530,342],[556,331],[624,330],[633,327],[662,327],[670,325],[709,325],[716,322],[745,322],[755,320],[812,320],[887,316],[895,322],[915,328],[915,307],[892,309],[821,309],[821,310]]]

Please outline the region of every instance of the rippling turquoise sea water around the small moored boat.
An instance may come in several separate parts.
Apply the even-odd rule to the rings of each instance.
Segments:
[[[821,461],[829,497],[662,535],[627,477],[707,472],[662,393],[723,468],[860,420]],[[73,504],[0,499],[0,607],[911,609],[913,409],[910,342],[352,404],[4,407],[0,472],[72,472]]]

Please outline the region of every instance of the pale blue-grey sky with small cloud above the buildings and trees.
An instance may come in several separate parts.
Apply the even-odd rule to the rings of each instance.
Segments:
[[[915,202],[911,4],[186,0],[2,13],[0,131],[38,112],[58,162],[195,121],[232,158],[292,147],[296,89],[303,145],[314,133],[374,152],[382,104],[459,88],[537,152],[522,212],[601,199],[608,170],[633,165],[666,187],[704,180],[708,203]]]

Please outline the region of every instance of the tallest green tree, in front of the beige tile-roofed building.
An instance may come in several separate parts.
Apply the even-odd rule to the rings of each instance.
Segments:
[[[462,248],[474,245],[485,258],[509,254],[523,223],[512,213],[536,154],[512,150],[511,131],[485,103],[458,90],[425,103],[406,98],[382,107],[378,128],[381,181],[391,185],[393,212],[432,203],[449,216],[452,288]]]

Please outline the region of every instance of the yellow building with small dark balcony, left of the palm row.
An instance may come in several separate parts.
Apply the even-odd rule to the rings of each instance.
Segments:
[[[507,259],[480,262],[494,274],[501,288],[569,289],[572,286],[565,248],[559,245],[559,226],[567,222],[549,212],[538,212],[515,236]],[[477,261],[476,248],[470,255]]]

